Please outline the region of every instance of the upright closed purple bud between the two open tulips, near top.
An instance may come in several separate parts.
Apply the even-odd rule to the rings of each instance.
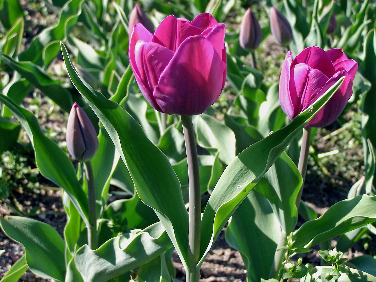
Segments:
[[[248,8],[240,24],[239,43],[243,49],[255,50],[262,39],[261,27],[257,18]]]

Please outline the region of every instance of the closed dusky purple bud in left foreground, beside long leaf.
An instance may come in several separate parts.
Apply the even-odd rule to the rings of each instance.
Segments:
[[[98,150],[98,137],[85,111],[74,103],[67,124],[67,147],[77,161],[92,159]]]

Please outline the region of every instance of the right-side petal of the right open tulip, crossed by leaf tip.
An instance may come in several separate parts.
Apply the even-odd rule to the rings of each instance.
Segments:
[[[327,89],[329,89],[335,82],[341,77],[345,76],[344,82],[341,84],[340,89],[338,89],[332,98],[325,104],[325,106],[312,118],[311,121],[306,125],[308,127],[323,127],[331,124],[336,118],[341,114],[345,108],[347,101],[349,101],[352,95],[352,81],[350,75],[347,71],[338,71],[329,81],[323,86],[320,92],[314,99],[312,99],[312,104],[318,99],[322,94],[324,94]],[[309,105],[307,105],[308,107]]]

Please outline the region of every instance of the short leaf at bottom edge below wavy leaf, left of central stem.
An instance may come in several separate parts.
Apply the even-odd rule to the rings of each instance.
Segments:
[[[171,282],[164,255],[147,262],[138,269],[139,282]]]

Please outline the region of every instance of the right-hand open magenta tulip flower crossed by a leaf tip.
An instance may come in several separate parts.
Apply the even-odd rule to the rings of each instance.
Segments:
[[[308,108],[341,77],[345,77],[334,96],[306,125],[323,127],[332,123],[343,111],[352,95],[352,85],[358,63],[348,59],[342,49],[324,51],[309,47],[293,60],[286,55],[279,82],[282,110],[293,120]]]

